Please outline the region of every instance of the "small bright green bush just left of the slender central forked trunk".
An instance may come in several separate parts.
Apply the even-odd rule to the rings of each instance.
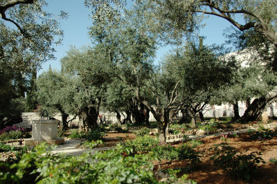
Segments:
[[[134,153],[138,152],[148,152],[151,151],[153,147],[157,146],[159,140],[157,138],[152,138],[150,136],[137,137],[134,140],[127,140],[124,142],[125,147],[130,147],[134,150]]]

